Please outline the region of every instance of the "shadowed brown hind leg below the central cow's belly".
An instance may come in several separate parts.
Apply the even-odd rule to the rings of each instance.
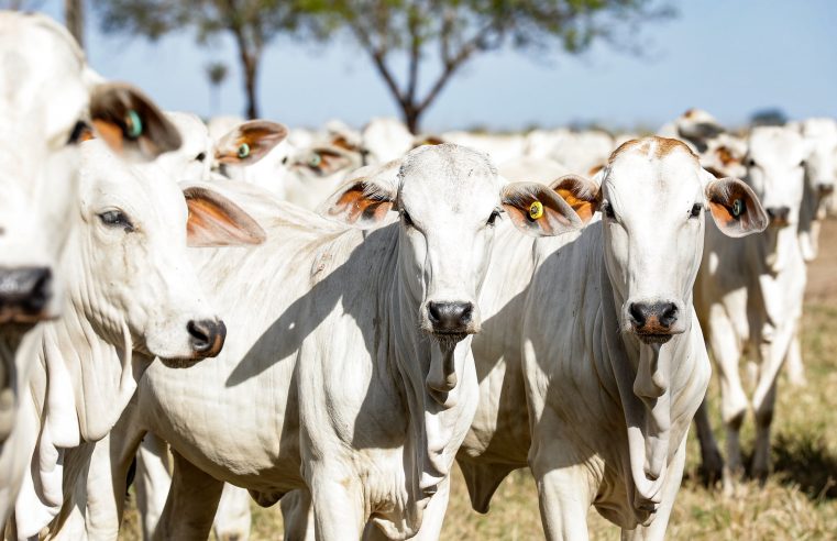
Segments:
[[[223,482],[173,451],[174,474],[168,499],[154,531],[154,539],[200,540],[209,538],[221,499]]]

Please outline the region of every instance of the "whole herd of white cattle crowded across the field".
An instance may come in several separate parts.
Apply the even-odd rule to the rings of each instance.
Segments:
[[[146,538],[245,539],[252,497],[437,539],[456,461],[481,512],[530,467],[549,539],[663,539],[692,420],[729,488],[749,409],[768,475],[837,122],[659,135],[203,123],[0,13],[7,537],[117,539],[133,483]]]

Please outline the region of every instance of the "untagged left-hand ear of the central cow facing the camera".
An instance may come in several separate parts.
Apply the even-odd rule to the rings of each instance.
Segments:
[[[322,214],[367,229],[381,223],[395,206],[395,190],[368,177],[355,178],[332,195],[322,206]]]

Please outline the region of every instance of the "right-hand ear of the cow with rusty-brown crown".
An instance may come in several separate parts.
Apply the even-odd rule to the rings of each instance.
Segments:
[[[768,227],[761,201],[737,178],[712,178],[706,184],[706,200],[715,224],[728,236],[760,233]]]

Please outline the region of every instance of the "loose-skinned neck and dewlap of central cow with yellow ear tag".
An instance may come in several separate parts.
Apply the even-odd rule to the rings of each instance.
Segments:
[[[420,329],[419,309],[421,299],[409,290],[407,265],[399,264],[394,273],[389,295],[390,338],[397,343],[393,347],[394,373],[400,374],[399,387],[407,398],[409,431],[405,459],[412,465],[415,475],[414,498],[423,508],[438,485],[450,475],[451,465],[459,440],[463,416],[463,375],[470,354],[471,338],[455,344],[440,346],[440,343]],[[443,379],[451,386],[448,391],[428,387],[428,378]],[[465,400],[466,401],[466,400]],[[408,475],[409,478],[409,475]]]

